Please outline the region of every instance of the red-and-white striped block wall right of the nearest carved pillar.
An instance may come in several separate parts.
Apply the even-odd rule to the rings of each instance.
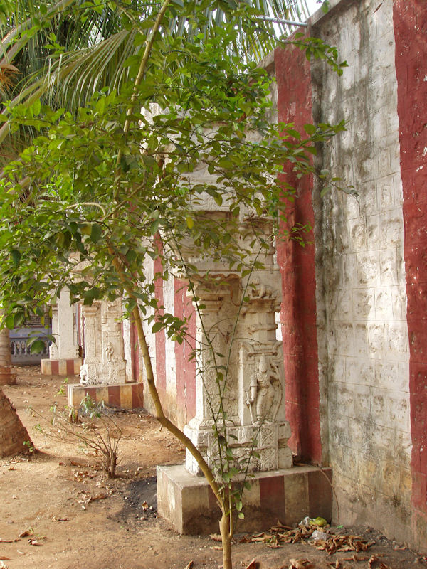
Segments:
[[[315,166],[357,192],[320,198],[320,181],[297,182],[290,210],[292,223],[314,218],[314,243],[280,257],[283,339],[292,346],[287,405],[303,411],[289,417],[294,450],[319,462],[320,446],[339,523],[368,523],[426,548],[427,5],[330,5],[312,16],[309,33],[338,47],[349,64],[342,77],[290,49],[275,53],[279,118],[297,127],[307,113],[315,122],[345,119],[347,131],[319,148]],[[310,447],[301,425],[311,420]]]

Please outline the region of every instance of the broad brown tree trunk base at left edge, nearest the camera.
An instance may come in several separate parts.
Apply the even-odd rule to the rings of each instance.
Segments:
[[[14,406],[0,389],[0,457],[28,452],[28,441],[32,445],[28,431],[21,423]]]

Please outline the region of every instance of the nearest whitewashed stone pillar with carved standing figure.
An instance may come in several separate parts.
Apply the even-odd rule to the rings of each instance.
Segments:
[[[256,220],[251,219],[251,228],[254,223]],[[258,220],[256,231],[267,237],[270,223]],[[248,249],[253,232],[245,222],[241,223],[241,232],[242,246]],[[196,296],[204,308],[201,317],[197,316],[196,417],[184,431],[215,467],[218,443],[213,418],[221,427],[223,418],[218,410],[222,401],[236,464],[244,469],[250,460],[250,471],[265,472],[291,467],[292,452],[288,448],[290,426],[285,420],[283,351],[276,340],[280,274],[273,247],[261,254],[255,250],[255,256],[264,268],[253,270],[243,280],[226,270],[216,275],[216,282],[213,276],[210,280],[200,277]],[[206,274],[214,275],[214,267]],[[189,452],[186,469],[199,474]]]

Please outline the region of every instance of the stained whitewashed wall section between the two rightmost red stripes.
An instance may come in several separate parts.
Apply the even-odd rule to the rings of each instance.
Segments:
[[[393,2],[342,2],[314,31],[349,64],[342,78],[313,68],[315,120],[348,121],[319,166],[358,193],[315,197],[319,369],[340,521],[406,539],[409,347]]]

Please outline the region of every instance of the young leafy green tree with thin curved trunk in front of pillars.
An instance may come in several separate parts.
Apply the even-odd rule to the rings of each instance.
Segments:
[[[241,507],[230,492],[235,469],[226,413],[213,410],[225,457],[213,472],[159,400],[143,321],[179,342],[186,338],[186,322],[162,311],[144,261],[161,260],[163,272],[156,278],[184,276],[196,304],[193,285],[201,275],[189,252],[247,277],[260,266],[254,249],[262,252],[269,243],[254,229],[253,243],[245,245],[241,221],[277,219],[280,204],[294,193],[278,183],[283,164],[292,164],[298,175],[311,172],[315,142],[342,129],[307,125],[304,139],[292,124],[270,124],[270,80],[233,50],[236,22],[250,21],[256,11],[234,3],[228,9],[228,21],[209,35],[202,33],[205,4],[165,0],[155,16],[141,18],[133,41],[144,47],[128,58],[128,80],[119,89],[96,92],[75,114],[39,100],[14,107],[10,128],[31,127],[40,134],[6,166],[0,182],[4,324],[12,327],[40,311],[65,286],[73,302],[124,299],[137,326],[156,417],[193,454],[221,508],[225,569],[231,569],[233,510]],[[200,30],[191,42],[186,33],[162,28],[178,16]],[[319,41],[303,45],[339,70],[336,51]],[[196,182],[200,168],[207,175]],[[221,215],[206,212],[206,196]],[[223,394],[226,373],[221,364],[216,371]]]

